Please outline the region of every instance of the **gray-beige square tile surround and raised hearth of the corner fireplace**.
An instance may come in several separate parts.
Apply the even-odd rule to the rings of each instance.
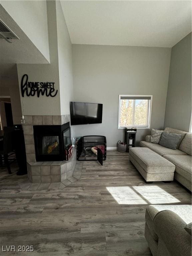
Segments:
[[[28,178],[32,183],[66,183],[72,177],[76,165],[76,149],[69,161],[36,162],[33,125],[62,125],[70,122],[70,115],[24,116],[23,132],[25,138]]]

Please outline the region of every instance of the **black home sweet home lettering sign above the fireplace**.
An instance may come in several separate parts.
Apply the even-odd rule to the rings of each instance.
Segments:
[[[39,98],[40,95],[47,97],[55,97],[58,90],[55,90],[53,82],[29,82],[28,75],[23,75],[21,79],[21,95],[35,96]]]

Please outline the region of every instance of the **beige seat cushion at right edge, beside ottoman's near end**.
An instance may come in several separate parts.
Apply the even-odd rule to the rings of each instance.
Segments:
[[[186,156],[173,156],[173,155],[164,155],[164,158],[172,162],[176,168],[175,172],[181,174],[187,180],[191,181],[192,173],[192,157],[189,155]]]

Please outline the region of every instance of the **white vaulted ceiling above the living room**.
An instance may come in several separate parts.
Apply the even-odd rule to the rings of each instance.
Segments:
[[[191,1],[61,1],[73,44],[172,47],[191,32]]]

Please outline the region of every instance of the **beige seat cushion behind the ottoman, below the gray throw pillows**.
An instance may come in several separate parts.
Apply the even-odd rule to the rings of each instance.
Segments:
[[[187,155],[185,152],[183,152],[179,149],[174,150],[174,149],[170,149],[170,148],[165,148],[159,144],[150,143],[150,142],[146,142],[146,141],[141,141],[140,147],[149,148],[161,156],[163,156],[163,155],[178,155],[178,156],[179,155]]]

